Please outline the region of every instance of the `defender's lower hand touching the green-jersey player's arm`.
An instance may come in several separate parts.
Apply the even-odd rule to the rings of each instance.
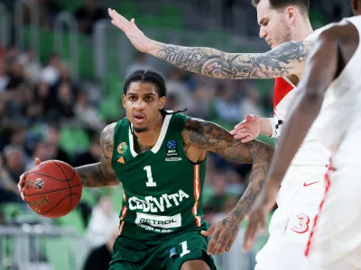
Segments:
[[[245,120],[235,126],[230,133],[235,139],[241,139],[241,142],[248,142],[257,139],[261,132],[261,120],[255,114],[245,115]]]

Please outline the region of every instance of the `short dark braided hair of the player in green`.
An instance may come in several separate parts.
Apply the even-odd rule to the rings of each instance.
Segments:
[[[164,77],[155,71],[148,69],[135,70],[126,78],[125,84],[123,86],[123,94],[128,92],[129,85],[134,82],[157,85],[157,92],[159,97],[167,95],[167,87],[165,85]]]

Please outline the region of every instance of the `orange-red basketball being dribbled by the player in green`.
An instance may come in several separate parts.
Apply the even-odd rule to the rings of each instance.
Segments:
[[[23,195],[30,208],[47,218],[65,216],[78,205],[82,192],[80,177],[72,166],[48,160],[26,176]]]

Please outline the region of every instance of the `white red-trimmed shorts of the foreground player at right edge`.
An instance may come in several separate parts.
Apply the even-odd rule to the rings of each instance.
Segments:
[[[330,160],[329,190],[310,239],[308,257],[322,269],[340,261],[361,268],[361,121],[351,128]]]

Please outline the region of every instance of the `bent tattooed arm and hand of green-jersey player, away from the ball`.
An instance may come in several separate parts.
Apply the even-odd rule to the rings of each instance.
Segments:
[[[209,229],[208,232],[210,234],[214,230],[215,236],[218,238],[215,247],[213,246],[216,240],[209,242],[209,252],[212,251],[210,248],[213,249],[213,254],[217,254],[218,250],[220,253],[224,250],[229,251],[236,239],[242,220],[244,220],[247,212],[250,211],[255,198],[262,189],[273,155],[273,147],[257,140],[242,143],[234,139],[227,130],[224,130],[217,124],[198,119],[190,119],[186,122],[182,138],[186,155],[193,162],[203,160],[205,152],[210,151],[232,161],[253,164],[245,193],[237,202],[235,208],[229,213],[227,219],[222,220],[221,224],[218,224],[218,233],[217,228],[213,228],[213,226],[213,229]],[[222,233],[223,235],[221,235]]]

